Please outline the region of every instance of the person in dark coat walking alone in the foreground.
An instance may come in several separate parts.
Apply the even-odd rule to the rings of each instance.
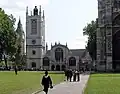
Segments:
[[[53,88],[51,77],[48,76],[48,71],[45,71],[45,75],[42,78],[42,83],[41,84],[44,86],[43,91],[45,92],[45,94],[48,94],[48,88],[49,87]]]

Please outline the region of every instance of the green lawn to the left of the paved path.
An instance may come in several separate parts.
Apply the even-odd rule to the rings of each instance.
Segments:
[[[64,74],[50,73],[53,84],[64,81]],[[0,72],[0,94],[31,94],[42,90],[42,72]]]

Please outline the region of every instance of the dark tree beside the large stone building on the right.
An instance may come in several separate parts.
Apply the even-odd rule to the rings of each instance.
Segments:
[[[97,32],[97,21],[91,21],[83,29],[83,35],[88,36],[87,50],[92,58],[96,60],[96,32]]]

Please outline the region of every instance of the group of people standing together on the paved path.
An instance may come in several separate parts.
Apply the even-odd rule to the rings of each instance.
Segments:
[[[67,77],[67,81],[72,81],[73,77],[73,82],[75,81],[80,81],[80,72],[77,70],[72,71],[71,69],[65,71],[65,76]]]

